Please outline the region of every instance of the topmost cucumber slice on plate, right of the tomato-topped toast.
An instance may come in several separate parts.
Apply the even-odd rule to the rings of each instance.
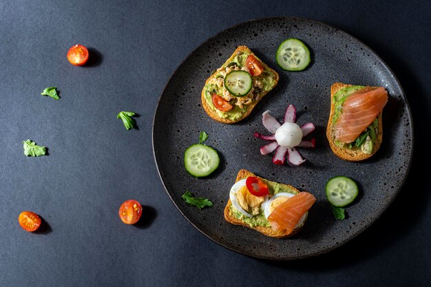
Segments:
[[[287,39],[278,46],[275,60],[283,70],[302,71],[311,61],[310,51],[302,41]]]

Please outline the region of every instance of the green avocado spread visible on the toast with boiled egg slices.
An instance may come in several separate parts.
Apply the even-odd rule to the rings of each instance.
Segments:
[[[274,195],[276,193],[281,193],[281,192],[288,192],[288,193],[297,194],[297,191],[295,189],[293,189],[293,187],[289,187],[289,186],[286,186],[284,184],[280,184],[278,182],[271,182],[269,180],[265,180],[264,178],[262,178],[262,180],[268,186],[269,193],[271,195]],[[269,221],[266,220],[266,217],[264,214],[264,209],[262,208],[262,205],[260,206],[259,213],[257,215],[253,215],[253,217],[244,216],[242,213],[240,213],[240,211],[235,209],[235,207],[233,207],[232,204],[229,206],[229,209],[230,209],[230,213],[235,218],[238,218],[239,220],[242,220],[246,224],[249,224],[250,227],[253,227],[253,226],[271,227],[271,224],[269,224]]]

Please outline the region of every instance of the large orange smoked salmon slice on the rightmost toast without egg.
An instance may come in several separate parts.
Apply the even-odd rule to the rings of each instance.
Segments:
[[[346,98],[335,126],[335,139],[354,142],[388,103],[383,87],[364,87]]]

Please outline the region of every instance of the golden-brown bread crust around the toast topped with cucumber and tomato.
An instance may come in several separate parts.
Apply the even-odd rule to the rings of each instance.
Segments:
[[[256,59],[258,59],[260,61],[260,63],[262,63],[262,65],[269,69],[274,75],[275,75],[275,85],[274,87],[277,86],[278,80],[279,80],[279,76],[277,74],[277,72],[275,72],[273,69],[271,69],[271,67],[269,67],[268,65],[266,65],[262,60],[260,60],[253,52],[251,52],[251,50],[246,47],[246,46],[239,46],[235,52],[233,52],[232,56],[227,59],[227,61],[223,64],[223,65],[227,65],[229,63],[231,63],[231,61],[233,61],[233,59],[235,58],[235,56],[237,55],[238,52],[246,52],[248,54],[252,54],[253,56],[256,57]],[[207,83],[211,80],[211,78],[213,78],[214,75],[211,75],[209,78],[207,78],[207,81],[205,81],[205,85],[207,85]],[[253,111],[254,107],[257,105],[257,103],[260,102],[260,100],[262,100],[262,98],[264,96],[266,96],[266,94],[268,94],[270,91],[268,92],[264,92],[262,93],[262,96],[260,96],[259,100],[253,101],[253,103],[251,103],[250,105],[244,105],[244,107],[247,107],[246,112],[241,116],[241,118],[238,118],[237,120],[229,120],[228,118],[221,118],[220,116],[218,116],[217,112],[213,110],[213,108],[209,105],[209,103],[207,103],[207,100],[205,99],[205,85],[202,88],[202,92],[200,93],[200,98],[202,101],[202,107],[204,108],[204,110],[207,112],[208,116],[210,116],[213,120],[217,120],[220,123],[224,123],[224,124],[233,124],[233,123],[238,123],[241,120],[244,120],[244,118],[246,118],[247,116],[249,116],[249,114],[251,113],[251,111]],[[273,88],[274,88],[273,87]]]

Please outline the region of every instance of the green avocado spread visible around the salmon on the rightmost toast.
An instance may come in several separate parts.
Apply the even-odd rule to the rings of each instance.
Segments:
[[[337,120],[340,114],[343,112],[343,104],[346,98],[352,95],[354,92],[359,89],[364,89],[365,86],[355,85],[352,87],[346,87],[344,89],[340,89],[334,95],[335,101],[335,114],[333,116],[333,124],[337,123]],[[379,129],[379,120],[375,118],[375,120],[369,125],[365,131],[363,131],[354,142],[350,142],[349,144],[340,142],[339,140],[335,140],[337,145],[340,147],[347,147],[348,149],[361,149],[364,153],[372,153],[372,147],[375,145],[375,140],[377,138],[377,133]]]

